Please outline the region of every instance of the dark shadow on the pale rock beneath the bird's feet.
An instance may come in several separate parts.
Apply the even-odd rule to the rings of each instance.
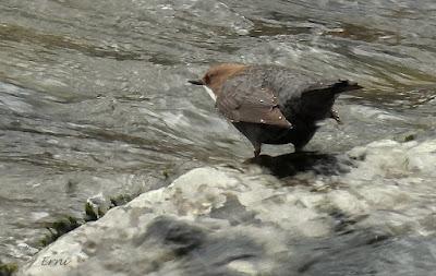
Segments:
[[[305,171],[324,176],[348,171],[346,166],[343,166],[343,160],[337,155],[317,152],[300,152],[278,156],[259,155],[244,163],[258,165],[278,178],[292,177]]]

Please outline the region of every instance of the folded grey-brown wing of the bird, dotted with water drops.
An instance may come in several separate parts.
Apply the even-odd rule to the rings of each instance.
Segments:
[[[253,122],[291,128],[279,109],[270,88],[250,85],[225,85],[217,97],[217,108],[232,122]]]

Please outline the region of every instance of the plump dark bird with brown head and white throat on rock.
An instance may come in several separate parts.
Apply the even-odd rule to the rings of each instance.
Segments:
[[[254,157],[263,144],[293,144],[295,152],[312,140],[318,122],[335,119],[338,95],[363,88],[341,79],[323,79],[277,64],[219,63],[199,80],[221,112],[253,145]]]

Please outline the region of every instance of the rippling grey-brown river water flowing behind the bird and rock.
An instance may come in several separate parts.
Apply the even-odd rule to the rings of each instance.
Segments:
[[[340,155],[380,140],[436,140],[433,0],[2,0],[0,260],[31,257],[45,221],[78,216],[100,192],[134,194],[190,168],[242,166],[250,143],[186,83],[229,61],[276,63],[365,87],[337,100],[344,123],[326,121],[308,151]],[[386,159],[377,159],[383,170],[396,156],[377,158]],[[393,238],[412,252],[407,256],[425,247],[433,259],[427,254],[415,275],[433,275],[436,176],[414,178],[422,182],[410,191],[417,194],[413,212],[399,212],[392,224],[428,221]],[[373,183],[380,201],[390,199],[383,197],[388,182]],[[376,251],[368,244],[362,254]]]

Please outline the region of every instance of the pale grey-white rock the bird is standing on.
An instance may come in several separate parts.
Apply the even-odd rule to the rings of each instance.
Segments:
[[[401,271],[395,251],[413,261],[423,250],[408,248],[436,233],[436,141],[378,141],[341,159],[347,172],[314,176],[304,168],[296,176],[304,181],[292,185],[256,169],[191,170],[59,238],[19,275]],[[425,252],[436,250],[434,239],[425,244]],[[363,260],[374,247],[386,259]],[[362,261],[365,267],[352,266]],[[412,261],[404,272],[420,265]]]

